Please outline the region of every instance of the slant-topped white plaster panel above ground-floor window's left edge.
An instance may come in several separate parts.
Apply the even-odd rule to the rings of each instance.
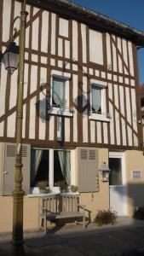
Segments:
[[[30,131],[29,131],[29,138],[35,138],[35,119],[36,119],[36,101],[37,97],[33,97],[30,101]]]

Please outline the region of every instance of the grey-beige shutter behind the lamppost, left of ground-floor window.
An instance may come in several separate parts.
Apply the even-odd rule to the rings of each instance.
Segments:
[[[22,189],[30,193],[30,145],[22,145]],[[3,160],[3,195],[11,195],[14,190],[15,144],[5,143]]]

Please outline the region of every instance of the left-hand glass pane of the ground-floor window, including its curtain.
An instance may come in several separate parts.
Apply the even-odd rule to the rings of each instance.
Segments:
[[[31,187],[42,180],[49,183],[49,150],[32,149],[31,155]]]

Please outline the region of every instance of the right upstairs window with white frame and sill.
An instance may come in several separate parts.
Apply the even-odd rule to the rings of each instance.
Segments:
[[[89,119],[101,120],[106,122],[110,121],[110,119],[107,118],[106,88],[106,82],[91,79],[91,109]]]

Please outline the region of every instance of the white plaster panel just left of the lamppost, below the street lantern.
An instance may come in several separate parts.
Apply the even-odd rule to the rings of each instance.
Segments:
[[[18,70],[15,70],[15,72],[11,76],[9,109],[13,108],[16,105],[17,88],[18,88]]]

